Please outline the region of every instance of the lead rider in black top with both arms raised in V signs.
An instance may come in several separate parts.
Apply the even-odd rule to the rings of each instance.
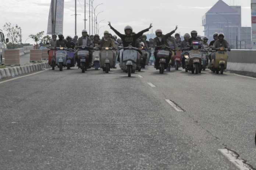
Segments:
[[[120,32],[118,32],[117,30],[115,30],[110,22],[109,22],[109,26],[110,29],[112,29],[120,38],[122,38],[122,42],[124,47],[128,47],[129,44],[132,44],[132,47],[136,47],[136,40],[139,38],[139,36],[141,36],[143,33],[149,31],[149,29],[152,27],[152,23],[150,23],[149,28],[142,30],[141,32],[132,35],[132,27],[127,25],[124,28],[124,32],[125,34],[121,34]]]

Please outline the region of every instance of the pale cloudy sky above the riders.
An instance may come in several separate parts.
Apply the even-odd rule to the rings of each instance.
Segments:
[[[176,32],[184,35],[191,30],[197,30],[203,36],[202,16],[218,0],[93,0],[95,13],[100,22],[99,34],[108,30],[115,34],[107,25],[107,21],[120,33],[124,33],[124,27],[130,25],[134,32],[139,32],[152,24],[152,29],[147,33],[154,33],[156,29],[163,30],[163,34],[171,32],[178,25]],[[223,0],[228,5],[240,5],[242,7],[242,26],[251,26],[250,0]],[[17,24],[22,29],[22,42],[34,44],[29,34],[41,31],[47,32],[48,15],[51,0],[0,0],[1,19],[0,29],[6,22]],[[84,29],[84,3],[85,0],[77,0],[77,34],[82,36]],[[86,0],[89,3],[89,0]],[[86,6],[86,30],[89,33],[89,5]],[[75,0],[64,0],[64,36],[75,35]],[[4,31],[3,31],[4,32]],[[7,33],[4,32],[4,35]]]

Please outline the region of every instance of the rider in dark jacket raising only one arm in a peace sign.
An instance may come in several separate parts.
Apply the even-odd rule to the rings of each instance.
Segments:
[[[178,26],[176,25],[176,28],[175,30],[171,31],[170,33],[164,35],[162,30],[160,29],[157,29],[156,30],[156,37],[154,38],[154,58],[155,58],[155,68],[158,68],[158,64],[159,64],[159,61],[157,60],[157,57],[156,57],[156,54],[157,54],[157,51],[161,48],[161,47],[157,47],[157,46],[161,46],[162,44],[165,44],[168,46],[168,43],[167,43],[167,38],[170,37],[173,33],[175,33],[175,31],[178,29]],[[171,53],[169,54],[169,59],[168,59],[168,62],[171,61]]]

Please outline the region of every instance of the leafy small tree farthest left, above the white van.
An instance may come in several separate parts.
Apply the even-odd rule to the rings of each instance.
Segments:
[[[19,27],[17,24],[12,26],[10,22],[6,22],[6,24],[3,26],[3,29],[7,32],[7,37],[10,39],[10,43],[14,49],[21,40],[21,27]]]

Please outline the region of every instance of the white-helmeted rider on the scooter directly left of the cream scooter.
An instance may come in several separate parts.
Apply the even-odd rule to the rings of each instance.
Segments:
[[[79,47],[81,45],[93,47],[92,40],[90,39],[90,37],[88,37],[87,31],[85,29],[82,30],[82,37],[78,38],[76,47]],[[88,51],[89,51],[89,63],[92,63],[92,51],[91,50],[88,50]],[[78,50],[74,53],[74,56],[78,63],[77,66],[80,67],[80,62],[78,61],[78,58],[77,58],[77,52],[78,52]]]

